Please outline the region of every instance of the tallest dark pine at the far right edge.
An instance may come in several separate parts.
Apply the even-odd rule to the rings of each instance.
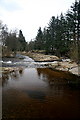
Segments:
[[[78,12],[78,8],[79,8],[79,3],[77,1],[75,1],[75,3],[71,6],[71,10],[68,12],[67,14],[67,18],[68,18],[68,23],[69,23],[69,34],[71,36],[71,49],[70,49],[70,56],[72,57],[72,59],[74,59],[75,61],[78,61],[79,58],[79,43],[78,43],[78,31],[79,31],[79,12]]]

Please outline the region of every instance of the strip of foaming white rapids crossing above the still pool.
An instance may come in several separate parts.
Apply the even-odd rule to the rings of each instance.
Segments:
[[[19,56],[20,57],[20,56]],[[5,66],[24,66],[24,67],[28,67],[28,68],[44,68],[44,67],[48,67],[50,63],[56,63],[57,61],[54,62],[35,62],[32,58],[28,57],[28,56],[23,56],[24,59],[21,59],[20,61],[1,61],[3,63],[3,65]]]

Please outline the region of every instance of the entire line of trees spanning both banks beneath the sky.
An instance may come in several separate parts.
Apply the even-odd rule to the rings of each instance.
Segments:
[[[0,22],[1,41],[11,51],[43,50],[45,54],[80,58],[80,1],[76,1],[63,15],[52,16],[48,26],[39,27],[34,40],[26,42],[21,30],[8,32]]]

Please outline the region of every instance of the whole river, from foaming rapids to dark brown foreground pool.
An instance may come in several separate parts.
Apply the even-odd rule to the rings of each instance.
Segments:
[[[76,76],[53,71],[46,68],[46,63],[36,63],[28,56],[3,63],[24,67],[3,81],[3,119],[80,119],[80,89],[68,85]]]

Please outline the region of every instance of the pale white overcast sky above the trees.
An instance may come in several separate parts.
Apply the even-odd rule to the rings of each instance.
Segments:
[[[0,20],[9,29],[21,29],[26,41],[35,38],[38,28],[52,16],[66,13],[75,0],[0,0]]]

